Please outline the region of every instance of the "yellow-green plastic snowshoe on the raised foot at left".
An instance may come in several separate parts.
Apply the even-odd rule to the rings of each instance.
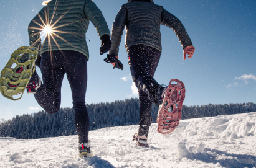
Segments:
[[[10,60],[2,69],[0,91],[7,99],[21,99],[32,73],[35,71],[37,48],[22,46],[12,53]],[[15,95],[21,96],[17,97]]]

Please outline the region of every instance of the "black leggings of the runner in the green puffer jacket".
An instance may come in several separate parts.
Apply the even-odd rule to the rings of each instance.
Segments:
[[[62,81],[64,74],[67,73],[79,143],[87,143],[89,132],[89,117],[85,105],[87,58],[77,51],[48,51],[42,53],[40,70],[44,84],[37,89],[34,96],[38,104],[50,114],[60,109]]]

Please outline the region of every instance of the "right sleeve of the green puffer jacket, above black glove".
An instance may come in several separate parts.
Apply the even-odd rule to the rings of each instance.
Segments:
[[[85,16],[92,22],[100,37],[105,34],[110,36],[110,30],[108,29],[107,22],[102,15],[102,11],[98,9],[92,0],[85,0],[84,11]]]

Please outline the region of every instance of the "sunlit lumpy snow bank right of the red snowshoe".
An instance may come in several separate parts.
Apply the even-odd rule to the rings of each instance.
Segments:
[[[187,136],[238,139],[256,135],[256,113],[194,119],[186,126]]]

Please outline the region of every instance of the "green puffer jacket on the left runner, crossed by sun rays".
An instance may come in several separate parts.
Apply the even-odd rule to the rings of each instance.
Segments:
[[[92,0],[52,0],[31,20],[29,43],[38,47],[40,54],[50,50],[73,50],[89,59],[85,33],[90,21],[100,37],[110,35],[102,12]],[[54,33],[45,38],[41,47],[40,32],[47,23],[54,25]]]

